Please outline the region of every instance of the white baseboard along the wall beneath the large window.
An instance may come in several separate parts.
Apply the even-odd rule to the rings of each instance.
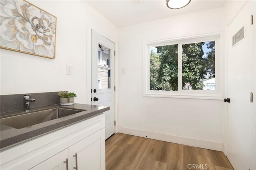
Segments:
[[[148,132],[143,130],[137,130],[132,128],[118,127],[119,133],[130,134],[134,136],[146,137],[150,139],[162,140],[166,142],[184,144],[188,146],[195,146],[199,148],[206,148],[210,150],[218,150],[223,152],[223,143],[194,139],[194,138],[186,138],[183,136],[175,136],[170,134],[160,134],[156,132]]]

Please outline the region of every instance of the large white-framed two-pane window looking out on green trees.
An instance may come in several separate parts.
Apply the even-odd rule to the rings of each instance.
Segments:
[[[220,35],[145,43],[145,96],[221,99]]]

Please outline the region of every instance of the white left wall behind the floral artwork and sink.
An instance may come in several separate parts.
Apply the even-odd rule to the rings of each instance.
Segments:
[[[29,2],[57,17],[56,59],[1,49],[0,94],[68,90],[78,95],[76,103],[87,103],[89,31],[94,29],[117,43],[117,28],[84,1]],[[66,64],[73,66],[73,75],[66,75]]]

